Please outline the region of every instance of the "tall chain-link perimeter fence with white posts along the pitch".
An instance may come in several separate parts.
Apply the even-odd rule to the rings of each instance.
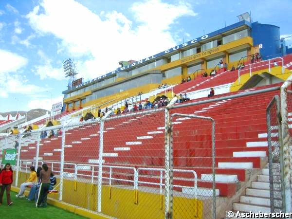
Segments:
[[[107,113],[8,135],[0,144],[9,149],[18,141],[14,186],[28,179],[30,166],[48,164],[57,179],[57,193],[49,194],[55,201],[114,218],[215,218],[215,123],[183,111]],[[204,159],[189,158],[182,143],[198,126],[209,140]],[[200,188],[201,168],[208,169],[209,189]]]

